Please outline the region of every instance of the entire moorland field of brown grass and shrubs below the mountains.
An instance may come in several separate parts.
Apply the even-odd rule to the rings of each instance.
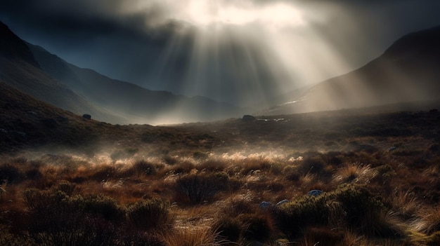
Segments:
[[[8,140],[0,245],[440,245],[436,110],[76,121]]]

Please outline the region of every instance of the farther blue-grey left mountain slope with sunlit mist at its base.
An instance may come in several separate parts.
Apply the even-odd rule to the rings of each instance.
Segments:
[[[241,116],[244,109],[207,97],[184,97],[118,81],[91,69],[69,64],[39,46],[28,43],[41,68],[75,93],[131,123],[212,121]]]

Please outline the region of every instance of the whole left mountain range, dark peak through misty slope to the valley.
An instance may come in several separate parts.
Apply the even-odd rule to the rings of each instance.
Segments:
[[[181,123],[241,116],[244,109],[118,81],[22,41],[4,24],[0,78],[39,100],[108,123]]]

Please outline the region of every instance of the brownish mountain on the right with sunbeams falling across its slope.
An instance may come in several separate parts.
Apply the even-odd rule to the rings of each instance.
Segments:
[[[440,27],[403,36],[365,66],[318,83],[265,114],[440,99]]]

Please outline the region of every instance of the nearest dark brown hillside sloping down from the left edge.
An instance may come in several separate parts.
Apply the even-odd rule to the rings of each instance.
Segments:
[[[51,144],[86,146],[112,125],[36,100],[0,80],[0,153]]]

